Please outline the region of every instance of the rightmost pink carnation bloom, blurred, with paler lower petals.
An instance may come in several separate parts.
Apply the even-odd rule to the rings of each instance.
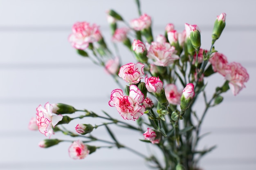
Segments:
[[[241,64],[236,62],[231,62],[225,71],[225,79],[229,81],[229,88],[234,95],[237,95],[245,87],[244,83],[249,80],[249,74]]]

